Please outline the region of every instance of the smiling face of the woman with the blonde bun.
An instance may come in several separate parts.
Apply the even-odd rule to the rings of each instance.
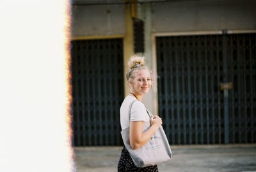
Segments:
[[[134,94],[147,94],[152,84],[152,78],[148,69],[141,69],[134,75],[134,80],[131,82],[131,91]]]

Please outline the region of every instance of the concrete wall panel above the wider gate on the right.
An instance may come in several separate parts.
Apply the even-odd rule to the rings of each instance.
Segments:
[[[256,29],[256,1],[176,1],[152,4],[152,32]]]

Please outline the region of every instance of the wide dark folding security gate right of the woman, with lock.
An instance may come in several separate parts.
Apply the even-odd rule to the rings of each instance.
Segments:
[[[255,39],[156,38],[159,114],[171,144],[256,143]]]

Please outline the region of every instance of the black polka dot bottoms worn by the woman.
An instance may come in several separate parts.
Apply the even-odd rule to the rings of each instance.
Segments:
[[[147,172],[158,172],[157,165],[155,166],[148,166],[144,168],[138,168],[135,166],[134,162],[132,161],[132,158],[128,152],[128,150],[124,147],[122,150],[121,157],[118,162],[118,172],[142,172],[142,171],[147,171]]]

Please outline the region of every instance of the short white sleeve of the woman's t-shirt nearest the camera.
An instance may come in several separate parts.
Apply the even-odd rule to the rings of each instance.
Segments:
[[[131,108],[131,121],[148,121],[147,110],[143,103],[135,101]]]

